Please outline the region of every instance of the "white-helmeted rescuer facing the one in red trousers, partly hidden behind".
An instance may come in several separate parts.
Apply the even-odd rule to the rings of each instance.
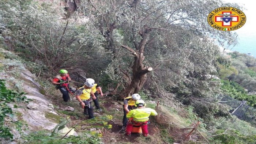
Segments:
[[[133,94],[132,96],[128,96],[124,98],[124,105],[123,105],[123,110],[124,110],[124,117],[123,117],[123,128],[122,130],[125,129],[127,126],[128,118],[126,118],[126,114],[129,113],[131,109],[135,109],[135,101],[140,99],[139,94]]]

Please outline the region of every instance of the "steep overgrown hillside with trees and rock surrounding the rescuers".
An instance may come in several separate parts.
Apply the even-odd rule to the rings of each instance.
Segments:
[[[256,60],[223,57],[212,41],[237,40],[206,21],[222,5],[1,0],[1,142],[254,144]],[[95,110],[95,118],[88,120],[74,95],[63,101],[51,82],[60,69],[72,87],[86,78],[102,87],[103,111]],[[120,131],[122,100],[135,93],[158,113],[150,117],[148,137]]]

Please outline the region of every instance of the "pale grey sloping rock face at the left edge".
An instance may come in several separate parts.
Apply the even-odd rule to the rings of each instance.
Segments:
[[[28,71],[19,60],[16,60],[17,57],[14,54],[3,49],[0,49],[0,53],[5,57],[9,55],[8,58],[0,58],[1,67],[4,69],[0,71],[0,79],[6,80],[8,89],[24,91],[27,93],[25,95],[27,98],[33,99],[27,104],[18,104],[19,108],[12,108],[16,113],[14,120],[24,121],[31,131],[52,130],[57,125],[53,117],[59,117],[59,115],[55,113],[51,101],[41,94],[44,93],[44,88],[35,81],[35,75]],[[13,107],[12,104],[10,106]],[[20,136],[16,134],[15,128],[11,129],[13,129],[14,139],[19,140]]]

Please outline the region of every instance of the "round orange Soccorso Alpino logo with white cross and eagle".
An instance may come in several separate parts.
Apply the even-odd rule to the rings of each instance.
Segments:
[[[207,17],[208,23],[217,30],[237,30],[245,24],[244,12],[233,7],[220,7],[211,11]]]

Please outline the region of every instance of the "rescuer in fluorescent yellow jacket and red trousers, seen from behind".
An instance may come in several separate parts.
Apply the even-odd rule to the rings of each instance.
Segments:
[[[132,126],[139,123],[142,128],[142,135],[148,136],[148,117],[150,115],[157,115],[157,112],[151,108],[144,108],[146,103],[143,100],[137,100],[135,106],[137,106],[138,109],[131,110],[126,115],[127,118],[133,118],[126,127],[126,135],[131,136]]]

